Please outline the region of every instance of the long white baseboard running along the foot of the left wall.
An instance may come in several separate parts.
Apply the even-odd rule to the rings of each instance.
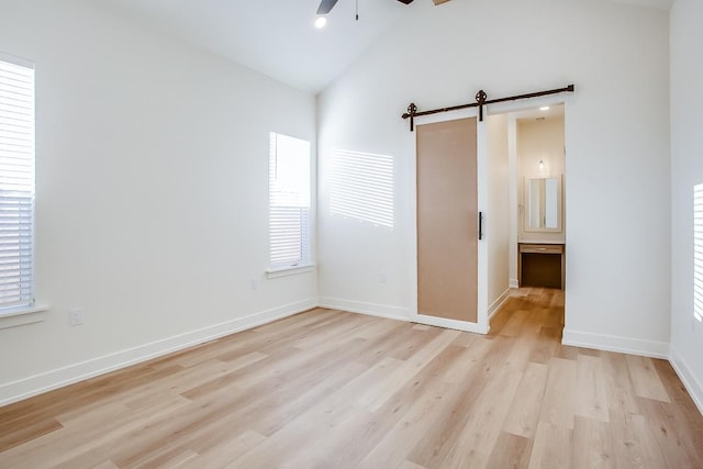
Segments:
[[[63,388],[99,375],[125,368],[152,358],[167,355],[193,345],[213,340],[239,331],[256,327],[282,317],[287,317],[317,305],[316,299],[308,299],[289,303],[259,313],[250,314],[221,324],[203,327],[198,331],[179,334],[172,337],[144,344],[137,347],[116,351],[90,360],[69,365],[18,381],[0,386],[0,405],[21,401],[33,395]]]

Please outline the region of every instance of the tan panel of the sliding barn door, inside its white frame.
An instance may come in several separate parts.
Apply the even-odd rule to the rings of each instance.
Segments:
[[[417,126],[417,313],[477,322],[476,118]]]

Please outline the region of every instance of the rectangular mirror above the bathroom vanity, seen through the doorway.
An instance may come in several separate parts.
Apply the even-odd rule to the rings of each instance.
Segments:
[[[561,177],[525,180],[525,231],[561,231]]]

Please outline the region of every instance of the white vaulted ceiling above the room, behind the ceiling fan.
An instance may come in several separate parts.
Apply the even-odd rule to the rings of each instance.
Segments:
[[[454,8],[429,0],[339,0],[327,26],[313,26],[320,0],[109,0],[154,29],[316,93],[392,25],[413,14]],[[603,0],[582,0],[603,1]],[[668,10],[673,0],[615,0]]]

